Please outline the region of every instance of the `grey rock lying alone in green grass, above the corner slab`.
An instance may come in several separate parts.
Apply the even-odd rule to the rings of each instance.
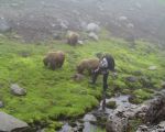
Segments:
[[[21,88],[18,84],[12,84],[10,89],[11,89],[11,94],[13,94],[15,96],[25,96],[26,95],[26,90]]]

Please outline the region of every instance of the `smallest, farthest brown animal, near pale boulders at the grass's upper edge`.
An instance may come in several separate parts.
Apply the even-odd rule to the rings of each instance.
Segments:
[[[75,46],[78,43],[79,34],[76,32],[69,31],[67,33],[67,43],[72,46]]]

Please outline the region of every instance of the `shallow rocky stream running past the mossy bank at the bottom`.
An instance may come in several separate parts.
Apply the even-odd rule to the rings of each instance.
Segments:
[[[116,101],[117,108],[135,108],[135,105],[129,102],[130,96],[118,96],[110,99],[106,99],[106,102]],[[113,114],[116,109],[106,108],[102,111],[102,101],[98,109],[92,110],[84,116],[82,119],[78,119],[73,123],[64,122],[63,128],[58,132],[106,132],[105,127],[102,127],[103,121],[108,119],[109,116]],[[105,119],[105,120],[103,120]]]

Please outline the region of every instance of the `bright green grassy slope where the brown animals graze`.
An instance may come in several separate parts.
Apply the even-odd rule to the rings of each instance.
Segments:
[[[52,50],[62,50],[67,54],[62,69],[52,72],[43,66],[44,55]],[[30,53],[22,57],[21,53]],[[75,82],[70,77],[75,74],[76,64],[87,57],[94,57],[98,52],[111,53],[117,62],[119,77],[109,79],[109,95],[114,91],[134,92],[140,99],[150,97],[151,91],[142,82],[128,84],[124,78],[141,70],[143,76],[151,77],[152,87],[160,88],[165,80],[162,54],[155,46],[146,42],[136,42],[131,47],[122,40],[101,40],[88,42],[84,46],[72,47],[62,42],[50,42],[38,45],[0,37],[0,100],[6,107],[0,109],[28,122],[61,117],[77,117],[98,105],[101,97],[101,78],[96,87],[88,85],[89,77],[81,82]],[[156,65],[157,70],[147,70]],[[28,90],[25,97],[10,94],[10,85],[16,82]]]

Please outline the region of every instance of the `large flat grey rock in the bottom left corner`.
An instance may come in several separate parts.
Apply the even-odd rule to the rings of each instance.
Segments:
[[[28,128],[28,123],[4,112],[0,112],[0,132],[11,132],[14,130],[18,130],[16,132],[21,132],[21,130],[25,130]]]

